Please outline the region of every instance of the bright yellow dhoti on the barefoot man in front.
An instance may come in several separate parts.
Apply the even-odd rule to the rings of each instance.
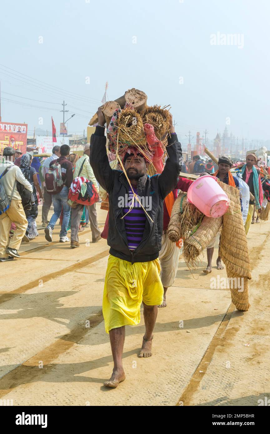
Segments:
[[[105,276],[102,312],[105,331],[137,325],[142,301],[156,306],[163,301],[158,259],[132,264],[110,255]]]

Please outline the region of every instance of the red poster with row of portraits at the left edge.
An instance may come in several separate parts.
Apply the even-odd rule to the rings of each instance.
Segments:
[[[11,146],[26,153],[27,124],[0,121],[0,154],[4,148]]]

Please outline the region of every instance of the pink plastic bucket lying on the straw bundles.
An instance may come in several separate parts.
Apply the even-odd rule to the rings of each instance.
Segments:
[[[188,188],[188,202],[194,204],[207,217],[221,217],[227,211],[230,201],[217,178],[204,175],[193,181]]]

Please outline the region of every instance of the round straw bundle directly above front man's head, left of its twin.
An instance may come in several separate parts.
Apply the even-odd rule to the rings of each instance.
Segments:
[[[145,145],[142,117],[131,109],[122,110],[118,119],[118,141],[129,146]]]

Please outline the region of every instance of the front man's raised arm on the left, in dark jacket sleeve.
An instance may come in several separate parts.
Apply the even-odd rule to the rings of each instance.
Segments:
[[[105,117],[101,107],[98,109],[98,124],[90,139],[89,161],[96,180],[109,193],[113,184],[113,171],[106,150]]]

